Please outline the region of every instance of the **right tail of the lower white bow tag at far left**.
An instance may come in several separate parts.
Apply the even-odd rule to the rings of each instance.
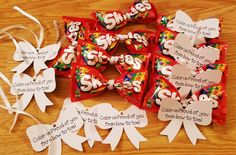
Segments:
[[[36,92],[34,93],[34,96],[38,107],[43,113],[45,112],[47,106],[53,105],[44,92]]]

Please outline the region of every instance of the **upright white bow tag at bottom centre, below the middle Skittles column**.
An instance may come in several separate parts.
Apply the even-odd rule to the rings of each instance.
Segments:
[[[136,127],[145,127],[148,124],[146,112],[140,110],[136,106],[130,106],[125,111],[117,111],[116,109],[107,110],[105,108],[99,110],[100,116],[98,126],[102,129],[110,129],[109,135],[103,140],[103,144],[110,144],[114,150],[118,145],[123,130],[128,136],[131,143],[139,149],[141,141],[147,141],[137,130]]]

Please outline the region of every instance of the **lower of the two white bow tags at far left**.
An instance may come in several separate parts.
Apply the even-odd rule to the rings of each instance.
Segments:
[[[53,105],[45,95],[45,93],[53,92],[56,88],[55,70],[53,68],[44,70],[34,79],[27,74],[16,73],[13,75],[12,84],[15,89],[11,88],[11,94],[22,94],[19,102],[13,107],[20,107],[20,110],[26,109],[33,96],[42,112],[45,112],[47,106]]]

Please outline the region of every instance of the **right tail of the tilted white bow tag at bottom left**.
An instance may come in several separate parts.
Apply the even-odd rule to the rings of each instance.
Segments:
[[[62,137],[62,140],[75,150],[83,151],[82,143],[87,140],[87,138],[78,136],[76,133],[67,133]]]

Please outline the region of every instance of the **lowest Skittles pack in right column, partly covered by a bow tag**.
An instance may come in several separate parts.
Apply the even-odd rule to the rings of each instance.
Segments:
[[[180,101],[180,96],[176,88],[165,80],[163,77],[156,78],[155,86],[153,86],[144,98],[142,108],[151,112],[159,110],[159,103],[163,98],[174,98]],[[226,87],[222,82],[220,84],[204,87],[194,93],[189,99],[181,100],[183,106],[188,106],[199,100],[208,100],[213,104],[212,119],[214,123],[224,125],[227,114],[227,96]]]

